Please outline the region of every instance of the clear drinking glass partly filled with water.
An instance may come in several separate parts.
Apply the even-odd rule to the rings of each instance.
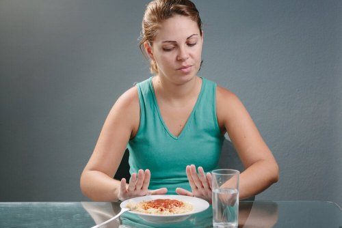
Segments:
[[[239,175],[235,169],[216,169],[213,177],[213,227],[237,227],[239,221]]]

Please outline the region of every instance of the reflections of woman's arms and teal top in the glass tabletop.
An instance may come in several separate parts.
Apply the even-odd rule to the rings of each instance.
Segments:
[[[120,203],[107,203],[105,206],[83,202],[83,208],[92,216],[95,224],[120,212]],[[211,206],[204,212],[194,214],[180,223],[157,224],[149,223],[135,214],[126,212],[120,218],[103,225],[107,228],[115,227],[213,227]],[[274,227],[278,220],[278,204],[275,202],[240,201],[239,227]]]

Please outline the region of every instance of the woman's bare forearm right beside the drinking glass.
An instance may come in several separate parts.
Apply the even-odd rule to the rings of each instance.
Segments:
[[[279,170],[275,161],[260,160],[242,172],[239,181],[239,198],[246,199],[261,193],[278,181]]]

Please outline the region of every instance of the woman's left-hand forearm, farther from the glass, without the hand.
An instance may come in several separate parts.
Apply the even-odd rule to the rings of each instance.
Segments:
[[[83,171],[81,190],[93,201],[117,201],[120,181],[100,171]]]

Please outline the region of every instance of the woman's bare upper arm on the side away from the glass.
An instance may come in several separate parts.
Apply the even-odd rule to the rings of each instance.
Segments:
[[[96,170],[113,176],[131,137],[140,122],[140,104],[137,87],[126,91],[109,111],[103,124],[94,152],[86,170]]]

